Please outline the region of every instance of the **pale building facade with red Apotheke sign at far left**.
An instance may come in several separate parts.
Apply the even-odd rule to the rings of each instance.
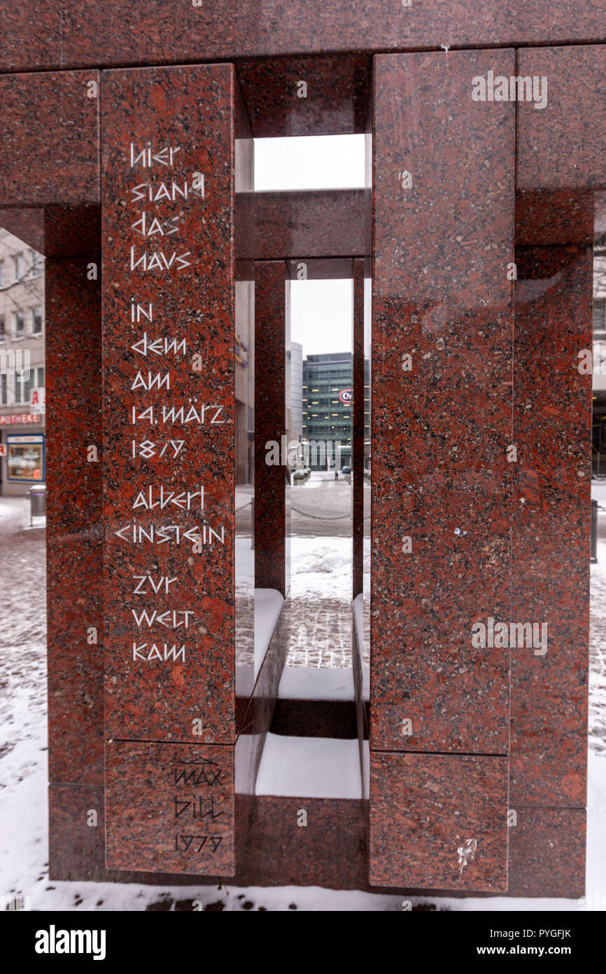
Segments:
[[[45,480],[44,257],[0,228],[0,489]]]

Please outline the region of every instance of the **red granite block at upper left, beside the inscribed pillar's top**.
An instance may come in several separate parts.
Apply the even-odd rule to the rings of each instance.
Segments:
[[[0,76],[0,206],[99,199],[99,72]],[[97,95],[89,83],[97,86]]]

